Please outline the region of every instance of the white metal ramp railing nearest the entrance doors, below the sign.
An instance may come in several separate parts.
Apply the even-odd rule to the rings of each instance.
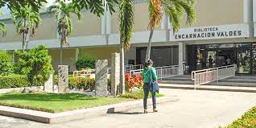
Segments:
[[[209,68],[192,72],[192,81],[194,81],[194,89],[197,85],[204,85],[213,81],[219,81],[228,77],[235,76],[237,65],[228,65],[218,68]]]

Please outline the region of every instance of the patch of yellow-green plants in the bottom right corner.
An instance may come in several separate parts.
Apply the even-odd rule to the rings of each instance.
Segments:
[[[256,128],[256,107],[250,109],[242,118],[238,118],[225,128]]]

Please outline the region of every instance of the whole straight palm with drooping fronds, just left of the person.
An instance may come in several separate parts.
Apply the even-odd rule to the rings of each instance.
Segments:
[[[125,68],[124,50],[130,49],[130,39],[134,27],[134,2],[133,0],[122,0],[119,5],[119,27],[120,27],[120,93],[125,93]]]

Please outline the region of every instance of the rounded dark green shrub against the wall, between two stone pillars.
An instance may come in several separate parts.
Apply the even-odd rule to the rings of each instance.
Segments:
[[[92,56],[81,56],[76,60],[76,69],[80,70],[82,68],[95,68],[96,59]]]

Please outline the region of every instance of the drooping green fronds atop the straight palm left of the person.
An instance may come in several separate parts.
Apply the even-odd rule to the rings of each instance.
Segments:
[[[130,39],[134,27],[133,0],[123,0],[120,2],[118,20],[120,23],[120,43],[123,43],[126,51],[128,51],[130,49]]]

